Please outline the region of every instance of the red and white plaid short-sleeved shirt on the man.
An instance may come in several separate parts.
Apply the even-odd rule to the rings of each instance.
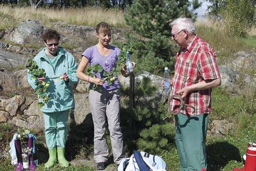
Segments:
[[[187,48],[180,48],[175,58],[174,82],[171,94],[184,87],[191,86],[204,80],[220,78],[215,54],[211,47],[196,36]],[[190,92],[184,98],[185,104],[195,107],[193,115],[210,113],[211,111],[211,89]],[[179,101],[173,99],[170,109],[175,112],[179,109]],[[183,114],[192,115],[193,109],[185,107],[180,111]]]

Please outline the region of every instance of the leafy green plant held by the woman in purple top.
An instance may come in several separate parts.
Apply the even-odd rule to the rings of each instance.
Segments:
[[[103,81],[107,81],[108,85],[111,86],[115,81],[115,78],[118,77],[118,75],[120,74],[122,67],[125,67],[126,51],[130,51],[130,54],[132,55],[135,49],[133,46],[124,44],[120,52],[120,55],[118,57],[119,60],[115,61],[114,67],[111,68],[111,72],[105,71],[100,64],[97,64],[97,65],[91,66],[87,70],[88,75],[92,78],[98,78],[97,73],[103,72],[103,78],[101,79]],[[92,89],[93,90],[97,89],[98,91],[101,91],[101,86],[93,84]]]

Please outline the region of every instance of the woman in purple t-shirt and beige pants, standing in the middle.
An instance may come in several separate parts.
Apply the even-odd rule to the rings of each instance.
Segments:
[[[98,78],[92,78],[84,74],[84,69],[90,63],[90,66],[100,64],[105,71],[110,72],[114,63],[118,59],[120,49],[111,46],[111,27],[108,23],[99,23],[96,27],[96,36],[99,39],[97,45],[87,48],[82,54],[82,60],[77,70],[77,77],[81,80],[90,82],[89,102],[94,125],[94,161],[97,163],[97,169],[103,170],[108,164],[109,149],[106,142],[106,121],[109,125],[110,140],[114,162],[119,165],[125,158],[123,135],[120,127],[120,83],[118,78],[108,85],[102,78],[102,73],[97,73]],[[134,63],[135,66],[135,63]],[[121,69],[124,77],[129,73],[125,68]],[[101,86],[102,91],[93,90],[92,85]]]

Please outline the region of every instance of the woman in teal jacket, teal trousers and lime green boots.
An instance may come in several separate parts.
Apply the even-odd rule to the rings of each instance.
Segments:
[[[47,93],[50,100],[42,106],[41,111],[45,120],[45,138],[49,150],[46,168],[54,166],[58,155],[59,164],[68,167],[65,158],[65,144],[68,133],[69,109],[74,108],[73,84],[78,81],[76,76],[77,63],[74,57],[59,47],[60,35],[56,30],[49,29],[42,34],[46,47],[34,58],[39,68],[45,69],[46,77],[36,80],[28,73],[28,82],[36,89],[36,81],[50,81]],[[39,100],[40,101],[40,100]]]

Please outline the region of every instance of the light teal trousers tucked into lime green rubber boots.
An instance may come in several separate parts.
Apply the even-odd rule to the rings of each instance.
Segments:
[[[45,120],[45,139],[49,149],[65,147],[68,135],[69,110],[60,112],[42,112]]]

